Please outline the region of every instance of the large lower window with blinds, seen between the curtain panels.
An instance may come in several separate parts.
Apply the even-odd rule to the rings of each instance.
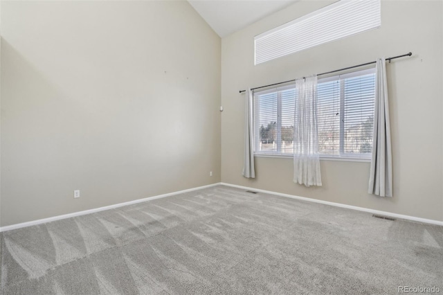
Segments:
[[[375,69],[319,79],[317,95],[320,156],[370,158]],[[254,93],[255,154],[293,153],[296,96],[294,85]]]

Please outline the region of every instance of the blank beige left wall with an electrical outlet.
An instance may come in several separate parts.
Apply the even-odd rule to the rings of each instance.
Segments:
[[[221,41],[187,1],[1,2],[1,226],[220,181]]]

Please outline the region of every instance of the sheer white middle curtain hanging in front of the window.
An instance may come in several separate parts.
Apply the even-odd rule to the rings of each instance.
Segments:
[[[318,155],[317,76],[296,80],[293,134],[293,181],[321,186]]]

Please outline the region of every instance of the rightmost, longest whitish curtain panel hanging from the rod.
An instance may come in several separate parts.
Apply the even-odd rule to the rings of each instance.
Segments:
[[[368,193],[392,197],[392,151],[386,60],[377,58],[374,105],[374,134]]]

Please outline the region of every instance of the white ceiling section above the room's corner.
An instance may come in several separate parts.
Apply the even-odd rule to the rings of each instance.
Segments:
[[[220,37],[255,23],[298,0],[188,0]]]

